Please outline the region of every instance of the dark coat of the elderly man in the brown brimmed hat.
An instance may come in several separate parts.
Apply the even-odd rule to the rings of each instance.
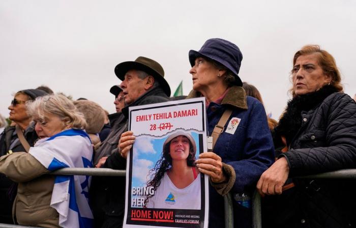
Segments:
[[[163,92],[161,88],[154,88],[149,92],[143,94],[135,102],[123,108],[123,114],[125,115],[125,120],[128,120],[128,110],[130,106],[144,105],[144,104],[154,104],[169,101],[167,95]],[[128,125],[123,126],[125,131],[128,131]],[[126,169],[126,159],[122,158],[120,154],[113,153],[109,156],[103,166],[103,168],[111,169]],[[125,209],[125,177],[108,177],[106,178],[107,183],[109,183],[107,189],[107,199],[106,205],[104,206],[104,211],[106,216],[104,218],[103,228],[110,227],[121,227],[124,219],[124,209]]]

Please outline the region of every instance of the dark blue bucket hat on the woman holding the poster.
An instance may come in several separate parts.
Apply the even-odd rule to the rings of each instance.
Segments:
[[[238,46],[219,38],[209,39],[199,51],[189,51],[189,62],[192,67],[198,57],[208,58],[222,64],[234,74],[235,85],[242,86],[239,77],[242,53]]]

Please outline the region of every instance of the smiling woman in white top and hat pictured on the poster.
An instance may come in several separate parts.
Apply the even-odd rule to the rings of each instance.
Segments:
[[[195,153],[191,134],[177,131],[167,137],[161,159],[149,172],[153,175],[147,187],[153,188],[153,194],[147,196],[145,207],[200,209],[200,174],[194,165]],[[167,201],[167,197],[173,200]]]

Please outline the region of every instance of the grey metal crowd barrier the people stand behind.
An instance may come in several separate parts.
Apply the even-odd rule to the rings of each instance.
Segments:
[[[91,176],[125,176],[126,170],[113,170],[107,168],[63,168],[54,171],[53,175],[91,175]],[[318,179],[347,179],[356,178],[356,169],[343,169],[333,172],[320,173],[316,175],[301,176],[298,178],[318,178]],[[225,228],[233,227],[232,197],[228,194],[224,197],[225,205]],[[261,225],[261,198],[257,191],[252,197],[253,228],[262,228]],[[40,228],[35,226],[11,225],[0,223],[0,228]]]

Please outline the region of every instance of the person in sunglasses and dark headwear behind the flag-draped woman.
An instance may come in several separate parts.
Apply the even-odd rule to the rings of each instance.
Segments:
[[[34,146],[38,136],[35,132],[34,124],[30,124],[32,119],[26,113],[25,103],[46,94],[46,92],[37,89],[20,90],[15,94],[9,106],[9,119],[13,125],[6,127],[4,132],[0,135],[0,156],[26,151],[24,145],[22,145],[22,142],[19,140],[18,134],[24,136],[29,146]],[[18,133],[16,133],[16,131]],[[11,214],[12,205],[16,196],[16,187],[17,184],[15,182],[7,178],[4,174],[0,174],[0,223],[13,223]]]

